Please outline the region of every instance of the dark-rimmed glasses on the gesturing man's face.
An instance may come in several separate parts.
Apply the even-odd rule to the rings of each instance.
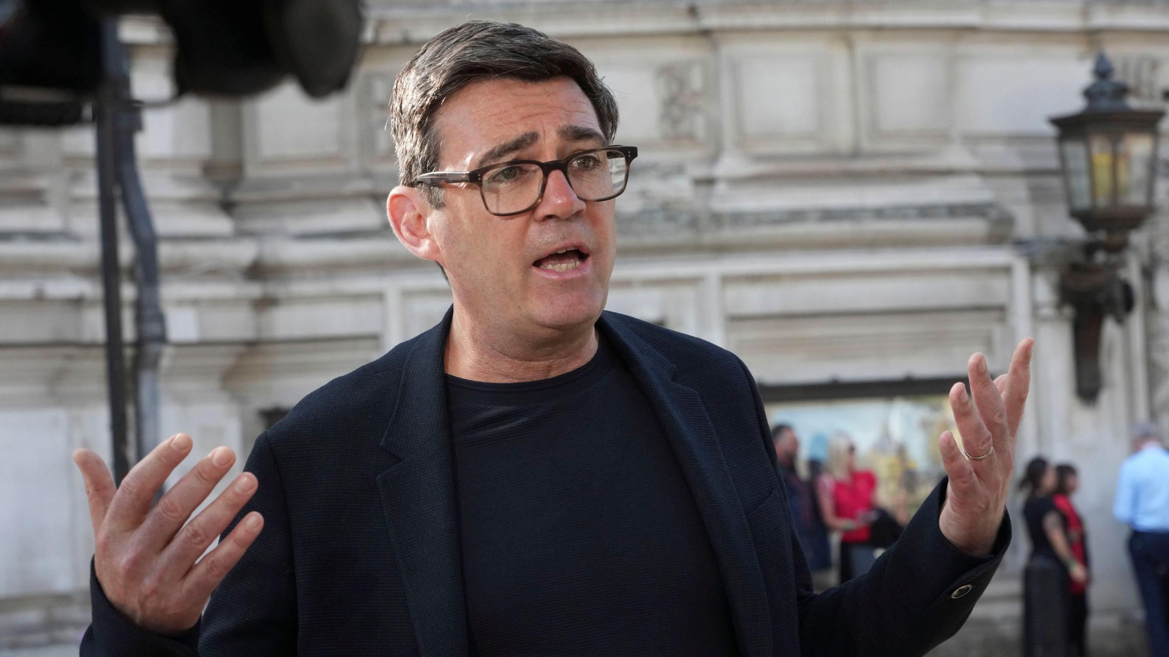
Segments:
[[[414,179],[415,184],[436,187],[443,182],[471,182],[487,212],[496,216],[524,214],[544,200],[548,175],[565,174],[568,186],[582,201],[608,201],[625,191],[629,162],[637,157],[636,146],[601,146],[577,151],[562,160],[511,160],[475,171],[435,171]]]

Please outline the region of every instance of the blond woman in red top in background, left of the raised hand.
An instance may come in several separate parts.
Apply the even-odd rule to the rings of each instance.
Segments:
[[[816,484],[816,499],[829,530],[841,533],[841,583],[863,573],[855,562],[869,562],[873,546],[869,525],[876,517],[877,477],[856,469],[857,449],[844,435],[828,447],[828,468]],[[867,554],[862,552],[867,551]],[[853,554],[860,552],[860,554]]]

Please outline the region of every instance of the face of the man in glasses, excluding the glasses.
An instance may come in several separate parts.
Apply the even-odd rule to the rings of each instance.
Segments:
[[[567,77],[480,81],[438,110],[441,171],[507,160],[559,160],[604,146],[593,104]],[[475,185],[444,185],[431,230],[456,299],[497,328],[528,334],[592,325],[613,271],[614,200],[581,201],[562,172],[514,216],[487,212]]]

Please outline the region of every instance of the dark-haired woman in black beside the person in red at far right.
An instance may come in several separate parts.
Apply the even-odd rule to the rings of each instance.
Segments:
[[[1035,457],[1024,469],[1019,489],[1026,491],[1023,518],[1031,539],[1031,555],[1023,572],[1023,636],[1026,657],[1066,657],[1068,652],[1071,583],[1086,585],[1087,569],[1075,560],[1060,513],[1056,469]]]

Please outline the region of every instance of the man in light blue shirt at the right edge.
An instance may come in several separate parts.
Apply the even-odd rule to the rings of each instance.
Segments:
[[[1133,435],[1134,454],[1120,466],[1112,514],[1133,528],[1128,554],[1144,601],[1149,655],[1169,657],[1169,451],[1156,424],[1141,424]]]

